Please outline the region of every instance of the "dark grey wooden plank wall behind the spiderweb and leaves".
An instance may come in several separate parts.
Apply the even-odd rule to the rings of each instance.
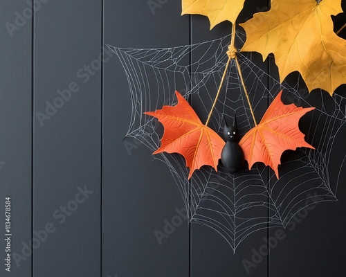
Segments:
[[[249,274],[242,260],[251,260],[252,249],[275,229],[251,235],[236,253],[194,224],[158,244],[154,231],[183,208],[183,199],[150,150],[127,153],[127,79],[102,46],[187,45],[227,35],[230,24],[209,31],[206,17],[180,16],[181,1],[154,2],[160,8],[153,13],[145,0],[41,0],[31,16],[25,1],[0,2],[0,233],[9,196],[17,254],[5,271],[0,240],[0,276],[344,276],[345,174],[339,202],[319,204]],[[268,1],[251,2],[243,21],[268,7]],[[27,18],[17,19],[23,12]],[[16,20],[9,32],[7,23]],[[335,20],[342,26],[345,17]],[[260,55],[254,61],[262,64]],[[52,109],[60,96],[61,107]],[[345,131],[332,151],[336,165],[345,158]],[[340,167],[330,168],[336,182]],[[30,240],[33,250],[26,247]]]

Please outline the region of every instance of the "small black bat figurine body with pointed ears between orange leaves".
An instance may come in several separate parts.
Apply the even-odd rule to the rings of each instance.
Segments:
[[[224,127],[224,138],[226,145],[221,152],[221,163],[229,172],[237,172],[242,169],[244,164],[244,152],[239,146],[239,132],[237,128],[237,116],[235,114],[233,125],[227,124],[226,118]]]

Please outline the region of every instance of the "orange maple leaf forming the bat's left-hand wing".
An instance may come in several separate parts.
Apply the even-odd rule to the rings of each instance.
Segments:
[[[165,127],[161,148],[154,154],[167,152],[183,155],[186,166],[190,168],[189,179],[194,170],[201,166],[212,166],[217,170],[224,140],[210,127],[201,123],[196,112],[178,91],[176,98],[178,104],[174,107],[164,106],[156,111],[145,112],[158,118]]]

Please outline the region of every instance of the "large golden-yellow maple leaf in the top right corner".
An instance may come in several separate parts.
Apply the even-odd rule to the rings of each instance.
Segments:
[[[244,24],[242,51],[256,51],[263,60],[275,56],[282,82],[299,71],[309,91],[324,89],[332,96],[346,83],[346,40],[333,31],[331,15],[343,12],[341,0],[272,0],[271,10]]]

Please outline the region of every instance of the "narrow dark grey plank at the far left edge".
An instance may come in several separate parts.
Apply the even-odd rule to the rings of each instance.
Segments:
[[[23,17],[25,1],[0,3],[0,229],[5,231],[5,197],[11,197],[10,251],[0,240],[1,276],[31,276],[31,42],[32,19]],[[21,17],[21,19],[19,19]],[[10,272],[5,271],[11,254]],[[24,260],[21,260],[24,258]]]

